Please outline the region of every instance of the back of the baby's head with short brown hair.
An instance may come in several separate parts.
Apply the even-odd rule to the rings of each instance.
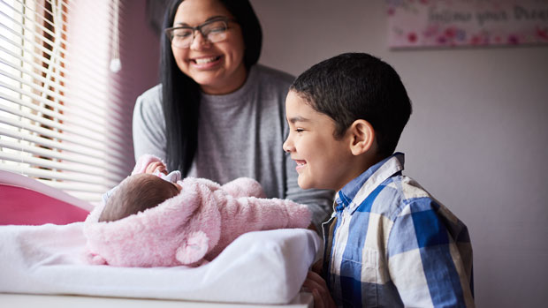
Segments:
[[[115,222],[150,207],[156,207],[166,199],[179,194],[175,185],[150,174],[127,177],[110,196],[99,222]]]

